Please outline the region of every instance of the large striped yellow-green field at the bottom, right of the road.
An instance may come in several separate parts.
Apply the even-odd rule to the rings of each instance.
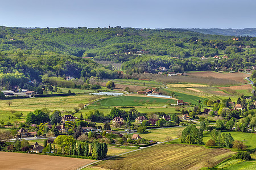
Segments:
[[[234,152],[227,149],[208,149],[201,146],[160,144],[144,148],[95,164],[96,167],[115,169],[199,169],[204,160],[213,160],[214,165],[229,158]]]

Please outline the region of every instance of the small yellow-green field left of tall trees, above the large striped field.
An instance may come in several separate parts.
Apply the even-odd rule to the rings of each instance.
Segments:
[[[177,128],[163,128],[163,129],[148,129],[147,134],[139,134],[140,137],[148,140],[167,141],[167,137],[171,137],[172,139],[178,138],[181,136],[181,132],[185,129],[185,127],[177,127]]]

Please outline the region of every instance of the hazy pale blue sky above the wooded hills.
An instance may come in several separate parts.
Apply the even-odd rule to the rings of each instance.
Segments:
[[[255,0],[2,0],[7,27],[256,28]]]

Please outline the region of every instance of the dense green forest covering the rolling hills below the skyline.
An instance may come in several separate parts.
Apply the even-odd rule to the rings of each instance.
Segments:
[[[122,63],[126,73],[156,73],[159,66],[180,72],[250,69],[256,65],[256,37],[237,38],[184,29],[0,27],[0,86],[47,82],[51,76],[84,82],[119,77],[97,60]],[[229,58],[213,59],[216,55]]]

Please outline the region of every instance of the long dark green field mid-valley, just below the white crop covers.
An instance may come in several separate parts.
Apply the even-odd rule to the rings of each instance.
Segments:
[[[103,99],[93,103],[93,105],[101,105],[104,107],[110,106],[163,106],[166,104],[175,104],[176,100],[172,99],[159,99],[153,97],[137,97],[137,96],[119,96],[111,97],[109,99]]]

